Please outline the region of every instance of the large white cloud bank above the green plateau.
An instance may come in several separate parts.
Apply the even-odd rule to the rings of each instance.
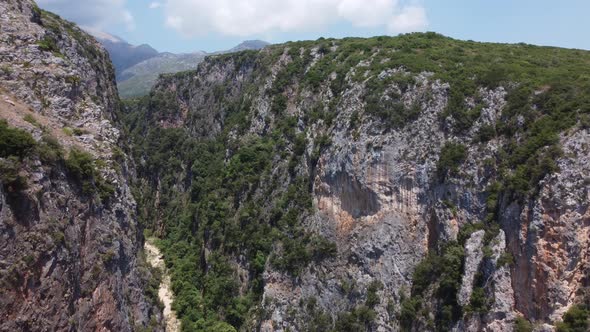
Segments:
[[[163,6],[166,24],[189,36],[309,31],[342,21],[390,33],[428,25],[423,7],[401,0],[166,0]]]

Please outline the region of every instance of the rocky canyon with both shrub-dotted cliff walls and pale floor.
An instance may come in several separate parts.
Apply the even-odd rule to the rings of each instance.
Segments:
[[[33,146],[0,149],[1,330],[562,331],[588,315],[590,52],[290,42],[121,101],[91,36],[29,0],[0,13],[0,127]]]

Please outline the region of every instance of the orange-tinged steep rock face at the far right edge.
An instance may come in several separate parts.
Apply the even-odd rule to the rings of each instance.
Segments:
[[[561,138],[560,171],[519,216],[526,228],[508,236],[508,245],[522,252],[513,275],[516,305],[532,317],[559,319],[589,285],[589,142],[588,129]]]

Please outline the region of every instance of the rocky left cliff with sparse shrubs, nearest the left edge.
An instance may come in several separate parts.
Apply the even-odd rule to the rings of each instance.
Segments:
[[[159,329],[118,107],[92,37],[33,1],[0,2],[3,130],[34,138],[0,156],[0,330]]]

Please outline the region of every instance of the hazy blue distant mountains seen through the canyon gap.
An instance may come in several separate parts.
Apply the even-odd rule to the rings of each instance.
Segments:
[[[102,31],[87,31],[109,52],[115,67],[117,88],[122,98],[146,95],[160,74],[196,69],[208,55],[259,50],[270,45],[262,40],[247,40],[226,51],[170,53],[158,52],[147,44],[132,45],[120,37]]]

